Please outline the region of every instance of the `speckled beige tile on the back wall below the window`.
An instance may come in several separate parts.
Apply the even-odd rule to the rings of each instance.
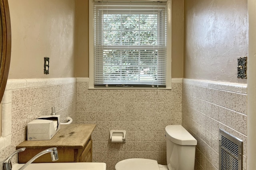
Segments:
[[[88,90],[77,80],[77,123],[95,123],[93,161],[107,170],[127,158],[149,158],[166,164],[166,125],[181,125],[182,79],[172,90]],[[110,143],[110,130],[126,130],[126,143]]]

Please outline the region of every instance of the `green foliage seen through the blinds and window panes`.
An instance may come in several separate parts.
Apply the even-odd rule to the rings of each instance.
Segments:
[[[157,80],[159,50],[153,49],[159,42],[157,15],[103,15],[104,80],[107,82]],[[142,48],[137,49],[138,46]],[[116,47],[119,49],[115,49]],[[129,49],[126,49],[127,47]]]

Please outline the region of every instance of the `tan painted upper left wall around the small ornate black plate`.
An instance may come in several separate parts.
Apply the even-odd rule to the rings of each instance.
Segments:
[[[12,27],[9,79],[74,77],[75,0],[8,0]],[[50,74],[44,74],[50,57]]]

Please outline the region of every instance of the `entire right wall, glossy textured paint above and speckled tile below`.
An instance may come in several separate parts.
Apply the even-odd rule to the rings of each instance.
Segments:
[[[196,170],[219,169],[219,128],[243,140],[247,169],[247,79],[237,78],[237,58],[248,55],[247,15],[247,0],[184,0],[182,125],[198,141]]]

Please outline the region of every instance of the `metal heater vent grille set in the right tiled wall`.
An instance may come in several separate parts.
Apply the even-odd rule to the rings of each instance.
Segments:
[[[242,170],[242,140],[220,129],[219,169]]]

